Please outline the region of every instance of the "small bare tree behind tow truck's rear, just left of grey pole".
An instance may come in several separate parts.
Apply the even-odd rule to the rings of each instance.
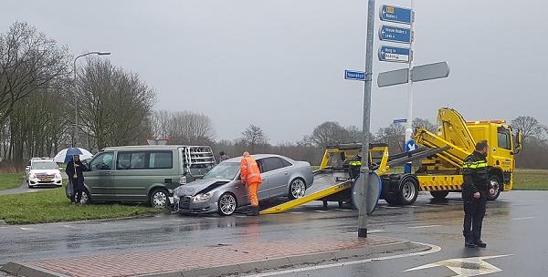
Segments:
[[[351,133],[337,122],[323,122],[314,128],[312,135],[308,138],[311,142],[324,148],[328,145],[351,142]]]

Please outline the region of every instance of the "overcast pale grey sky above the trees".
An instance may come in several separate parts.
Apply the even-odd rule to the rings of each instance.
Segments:
[[[446,79],[414,85],[415,117],[434,120],[449,106],[467,119],[531,115],[548,124],[548,1],[414,2],[416,65],[451,67]],[[155,88],[156,108],[205,113],[216,139],[255,124],[278,143],[326,120],[362,127],[364,84],[343,71],[364,69],[366,3],[3,0],[0,32],[26,21],[73,54],[111,51],[115,65]],[[401,67],[375,55],[375,73]],[[374,83],[374,130],[406,118],[406,93]]]

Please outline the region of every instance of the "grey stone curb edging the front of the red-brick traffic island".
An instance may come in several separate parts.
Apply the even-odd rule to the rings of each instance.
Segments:
[[[176,272],[159,272],[138,275],[142,277],[201,277],[201,276],[225,276],[232,274],[247,274],[259,271],[276,270],[282,268],[297,267],[311,263],[330,263],[359,260],[366,256],[383,254],[395,251],[427,251],[430,247],[411,241],[398,241],[389,244],[375,245],[347,249],[342,251],[324,251],[311,254],[286,256],[266,261],[245,262],[227,264],[210,268],[189,269]],[[0,269],[1,271],[27,277],[67,277],[58,272],[51,272],[26,264],[26,262],[9,262]]]

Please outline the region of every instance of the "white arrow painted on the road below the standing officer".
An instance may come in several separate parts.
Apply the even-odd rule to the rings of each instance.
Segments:
[[[452,272],[457,273],[456,277],[469,277],[469,276],[478,276],[484,274],[490,274],[494,272],[501,272],[502,270],[489,262],[483,260],[508,257],[511,255],[498,255],[498,256],[487,256],[487,257],[472,257],[472,258],[462,258],[462,259],[448,259],[439,262],[428,263],[422,266],[418,266],[412,269],[408,269],[404,272],[413,272],[418,270],[429,269],[438,266],[445,266]]]

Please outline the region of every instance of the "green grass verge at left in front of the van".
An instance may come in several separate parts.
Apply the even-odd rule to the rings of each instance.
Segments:
[[[0,220],[8,224],[115,219],[161,211],[143,205],[70,205],[64,188],[0,196]]]

